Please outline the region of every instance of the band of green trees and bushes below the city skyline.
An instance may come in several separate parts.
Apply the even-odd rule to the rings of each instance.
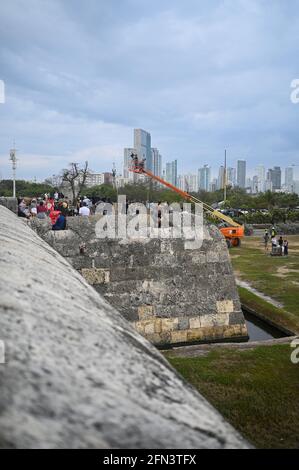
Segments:
[[[87,163],[87,162],[86,162]],[[72,164],[75,165],[75,164]],[[78,175],[84,174],[86,169],[78,168]],[[86,170],[87,171],[87,170]],[[66,177],[67,175],[67,177]],[[71,178],[69,178],[71,175]],[[44,183],[32,183],[29,181],[17,181],[17,195],[20,197],[37,197],[45,192],[53,192],[59,189],[62,181],[69,181],[72,186],[72,180],[77,178],[77,169],[63,170],[63,175],[54,178],[48,178]],[[117,200],[117,191],[112,185],[103,184],[86,188],[82,183],[80,194],[86,193],[89,197],[100,197],[110,199],[112,202]],[[75,189],[73,187],[73,193]],[[63,191],[62,191],[63,192]],[[75,191],[76,192],[76,191]],[[11,196],[12,181],[0,181],[0,196]],[[147,181],[139,184],[129,184],[124,188],[119,188],[118,194],[125,194],[128,202],[143,202],[150,200],[152,202],[183,202],[181,196],[172,190],[160,188],[154,181]],[[198,191],[192,193],[199,200],[206,204],[213,205],[223,202],[223,190],[215,192]],[[77,196],[77,194],[75,194]],[[73,198],[76,199],[73,195]],[[257,195],[247,194],[244,189],[227,188],[227,201],[222,204],[223,209],[241,209],[248,211],[247,214],[239,214],[234,217],[240,223],[246,224],[274,224],[278,222],[299,222],[299,196],[297,194],[260,193]],[[263,210],[263,211],[262,211]],[[266,211],[266,212],[265,212]]]

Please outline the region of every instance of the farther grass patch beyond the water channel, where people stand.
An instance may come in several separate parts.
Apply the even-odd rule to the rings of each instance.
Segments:
[[[266,316],[299,333],[299,236],[287,238],[287,257],[265,253],[261,237],[245,237],[242,246],[231,249],[230,255],[236,277],[281,303],[282,308],[267,306],[267,302],[240,288],[242,303],[256,311],[260,308]]]

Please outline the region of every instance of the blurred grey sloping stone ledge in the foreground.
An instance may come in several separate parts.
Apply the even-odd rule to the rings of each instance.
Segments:
[[[0,226],[0,447],[247,447],[26,221]]]

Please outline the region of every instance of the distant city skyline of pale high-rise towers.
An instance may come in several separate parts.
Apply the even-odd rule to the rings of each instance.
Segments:
[[[188,192],[199,190],[215,191],[225,186],[239,187],[252,193],[270,191],[298,192],[299,180],[296,180],[296,166],[284,168],[284,180],[282,178],[283,168],[273,166],[267,168],[263,164],[257,165],[248,171],[247,161],[238,159],[236,168],[228,164],[227,151],[224,151],[224,162],[218,168],[218,174],[209,164],[204,164],[193,172],[183,173],[178,171],[178,160],[164,161],[157,148],[152,147],[152,136],[144,129],[134,129],[134,147],[124,148],[123,170],[121,184],[136,183],[144,181],[144,175],[136,175],[130,171],[131,155],[137,155],[140,161],[144,161],[145,168],[156,176],[162,177],[168,183]],[[148,159],[147,156],[150,156]],[[230,162],[229,162],[230,163]]]

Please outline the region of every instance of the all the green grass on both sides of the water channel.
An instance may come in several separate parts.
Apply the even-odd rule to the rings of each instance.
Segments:
[[[299,334],[299,236],[288,240],[288,257],[271,257],[258,237],[246,237],[230,255],[236,277],[271,298],[239,287],[242,304]],[[166,357],[254,446],[298,448],[299,364],[291,352],[290,345],[272,345]]]

